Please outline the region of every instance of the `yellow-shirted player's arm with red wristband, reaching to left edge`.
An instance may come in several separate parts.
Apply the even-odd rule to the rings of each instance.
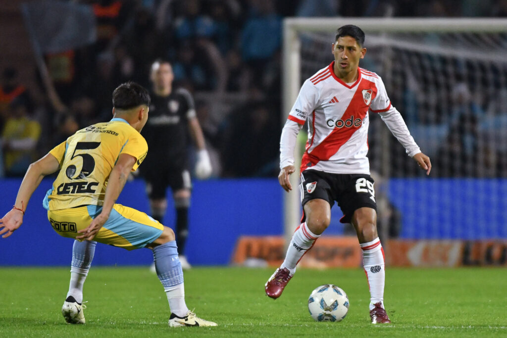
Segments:
[[[30,164],[19,186],[12,210],[0,218],[0,235],[3,235],[2,238],[11,236],[21,226],[31,195],[41,184],[44,176],[54,173],[59,167],[58,160],[51,154],[47,154],[39,161]]]

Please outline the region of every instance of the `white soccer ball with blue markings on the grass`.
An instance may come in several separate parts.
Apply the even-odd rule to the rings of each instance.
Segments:
[[[349,301],[345,291],[333,284],[325,284],[312,291],[308,310],[317,322],[339,322],[347,315]]]

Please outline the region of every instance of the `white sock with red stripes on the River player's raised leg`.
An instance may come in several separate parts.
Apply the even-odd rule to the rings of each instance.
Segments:
[[[292,235],[291,244],[289,244],[285,260],[281,265],[281,269],[287,268],[291,275],[296,272],[296,266],[303,255],[308,251],[313,243],[319,238],[320,235],[315,235],[308,229],[306,222],[302,223]]]

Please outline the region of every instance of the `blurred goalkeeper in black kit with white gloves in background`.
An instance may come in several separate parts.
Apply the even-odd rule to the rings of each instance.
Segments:
[[[171,187],[176,208],[175,233],[179,260],[183,269],[190,269],[185,256],[192,189],[188,169],[189,132],[197,147],[195,175],[206,179],[211,175],[212,168],[192,95],[186,89],[174,89],[173,79],[172,67],[168,61],[157,60],[152,64],[150,120],[142,131],[150,152],[144,161],[146,164],[141,169],[141,175],[147,183],[151,216],[159,222],[163,221],[167,210],[167,187]]]

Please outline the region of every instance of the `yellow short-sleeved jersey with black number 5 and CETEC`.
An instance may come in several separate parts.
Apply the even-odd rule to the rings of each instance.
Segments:
[[[136,159],[135,171],[148,153],[148,144],[127,121],[115,118],[77,131],[49,153],[60,163],[60,172],[44,204],[49,210],[60,210],[102,205],[120,154]]]

